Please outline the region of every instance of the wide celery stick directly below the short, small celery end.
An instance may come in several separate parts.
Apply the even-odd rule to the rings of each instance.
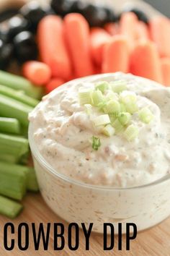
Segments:
[[[1,155],[13,155],[18,161],[22,155],[28,152],[29,143],[27,139],[0,133],[0,159],[3,159]]]

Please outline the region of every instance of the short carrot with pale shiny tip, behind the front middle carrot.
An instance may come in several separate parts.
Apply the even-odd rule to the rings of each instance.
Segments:
[[[90,47],[91,56],[97,65],[102,64],[102,52],[104,45],[109,41],[111,36],[100,27],[95,27],[91,29],[90,34]]]

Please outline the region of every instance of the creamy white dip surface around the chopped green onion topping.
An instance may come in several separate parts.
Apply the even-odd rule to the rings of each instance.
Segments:
[[[79,89],[94,88],[95,82],[68,82],[46,95],[30,114],[35,145],[56,172],[86,184],[105,187],[136,187],[154,182],[170,173],[170,90],[129,74],[109,74],[104,80],[124,80],[135,92],[138,108],[148,107],[153,120],[143,124],[136,114],[131,123],[138,137],[128,141],[123,135],[103,135],[79,103]],[[98,150],[91,147],[92,136],[99,137]]]

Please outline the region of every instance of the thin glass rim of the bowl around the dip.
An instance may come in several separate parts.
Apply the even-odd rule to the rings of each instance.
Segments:
[[[94,78],[94,80],[95,80],[95,78],[97,79],[101,76],[102,77],[107,77],[108,75],[112,76],[112,74],[115,74],[115,73],[94,74],[94,75],[91,75],[91,76],[88,76],[88,77],[78,78],[76,80],[71,80],[69,82],[64,83],[63,85],[60,86],[60,88],[62,88],[64,85],[69,84],[70,82],[85,81],[89,77]],[[117,74],[122,74],[122,73],[117,72]],[[137,76],[133,76],[133,74],[128,74],[128,76],[137,77]],[[143,78],[143,77],[137,77],[137,78],[140,79],[140,80],[143,80],[143,81],[146,80],[148,82],[152,82],[157,87],[160,87],[160,85],[157,82],[148,80],[148,79]],[[58,90],[58,88],[56,88],[55,90]],[[53,91],[50,94],[53,94]],[[86,188],[89,188],[89,189],[102,189],[102,190],[108,190],[108,191],[109,190],[126,191],[126,190],[145,189],[145,188],[148,188],[148,187],[153,187],[153,186],[156,186],[158,184],[164,183],[164,182],[166,182],[167,180],[170,179],[170,174],[167,174],[167,175],[161,177],[161,179],[157,179],[154,182],[150,182],[148,184],[143,184],[143,185],[135,186],[135,187],[106,187],[106,186],[99,186],[99,185],[94,185],[94,184],[86,184],[84,182],[81,182],[81,181],[76,180],[76,179],[71,179],[71,178],[69,178],[68,176],[66,176],[64,174],[59,173],[58,171],[55,170],[55,168],[53,168],[50,165],[50,163],[48,163],[48,161],[45,160],[45,158],[40,154],[40,151],[38,150],[37,145],[35,144],[35,142],[33,140],[33,137],[32,137],[32,123],[31,122],[30,122],[29,128],[28,128],[28,140],[29,140],[29,143],[30,143],[30,149],[31,149],[32,155],[35,157],[36,161],[38,161],[40,163],[40,165],[42,165],[45,168],[46,171],[48,171],[50,174],[53,174],[53,176],[57,176],[58,178],[63,179],[65,182],[75,184],[77,186],[86,187]]]

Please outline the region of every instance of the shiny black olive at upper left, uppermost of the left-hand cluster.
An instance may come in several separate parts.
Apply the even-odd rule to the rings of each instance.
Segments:
[[[22,16],[14,16],[9,19],[6,30],[6,35],[9,42],[13,40],[15,35],[19,34],[24,30],[27,30],[28,27],[29,25],[27,20],[25,20]]]

